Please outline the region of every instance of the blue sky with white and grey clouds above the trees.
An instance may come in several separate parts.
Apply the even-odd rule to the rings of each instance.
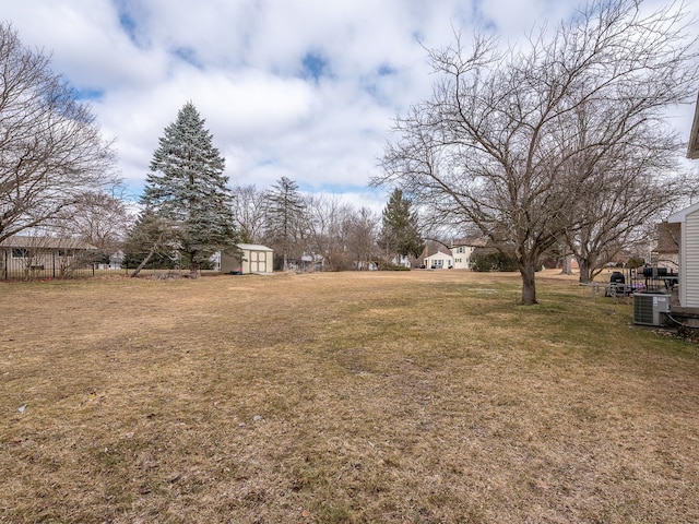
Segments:
[[[649,0],[660,4],[660,0]],[[699,0],[686,2],[699,15]],[[576,0],[0,0],[116,139],[138,198],[166,126],[192,102],[232,187],[281,177],[380,211],[367,187],[393,119],[430,96],[427,50],[479,27],[503,44],[571,15]],[[699,16],[698,16],[699,20]],[[694,106],[671,118],[688,138]]]

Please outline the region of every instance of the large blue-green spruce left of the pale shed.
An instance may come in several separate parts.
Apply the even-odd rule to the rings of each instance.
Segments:
[[[178,251],[196,274],[216,251],[236,252],[233,195],[225,160],[191,102],[165,128],[141,203],[173,224]]]

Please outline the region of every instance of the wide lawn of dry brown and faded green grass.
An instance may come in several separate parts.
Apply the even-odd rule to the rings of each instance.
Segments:
[[[699,522],[696,346],[518,286],[0,284],[0,521]]]

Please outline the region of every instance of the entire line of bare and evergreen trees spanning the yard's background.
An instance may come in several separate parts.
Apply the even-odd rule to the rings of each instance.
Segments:
[[[230,189],[191,103],[165,128],[141,211],[120,198],[116,155],[87,105],[0,24],[0,241],[26,231],[119,247],[138,266],[196,274],[214,252],[265,243],[282,269],[366,269],[417,255],[424,239],[478,237],[517,261],[521,301],[556,253],[594,277],[696,187],[665,118],[699,83],[696,32],[682,4],[591,0],[503,48],[487,33],[428,50],[435,85],[394,121],[375,187],[381,216],[281,178]],[[442,240],[443,241],[443,240]]]

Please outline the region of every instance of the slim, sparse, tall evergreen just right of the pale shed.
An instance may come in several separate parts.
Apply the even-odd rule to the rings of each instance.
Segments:
[[[266,194],[268,229],[270,237],[281,248],[284,271],[288,270],[288,254],[292,245],[301,234],[304,198],[294,180],[282,177]]]

